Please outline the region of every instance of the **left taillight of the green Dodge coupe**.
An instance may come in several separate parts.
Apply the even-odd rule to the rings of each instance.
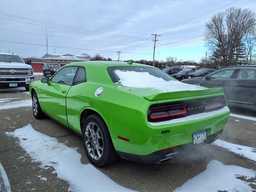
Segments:
[[[149,110],[149,120],[161,120],[165,118],[175,118],[187,114],[186,104],[165,106]]]

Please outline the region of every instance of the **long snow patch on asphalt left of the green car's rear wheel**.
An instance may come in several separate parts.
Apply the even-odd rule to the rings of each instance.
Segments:
[[[6,134],[19,138],[20,146],[31,156],[33,162],[41,162],[42,168],[52,166],[53,173],[69,182],[70,190],[74,192],[132,191],[116,184],[91,164],[82,164],[81,154],[75,149],[34,130],[30,124]]]

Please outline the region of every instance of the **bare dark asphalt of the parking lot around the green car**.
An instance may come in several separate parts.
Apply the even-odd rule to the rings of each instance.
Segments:
[[[38,78],[37,78],[38,79]],[[26,102],[28,92],[22,89],[1,90],[1,99],[12,98],[8,102]],[[244,114],[233,111],[234,113]],[[254,116],[252,112],[246,115]],[[33,162],[26,151],[18,144],[18,139],[6,135],[28,124],[48,136],[58,138],[58,142],[76,148],[82,155],[82,164],[89,164],[82,144],[82,138],[46,118],[36,120],[32,107],[19,107],[0,110],[0,162],[4,166],[13,192],[68,192],[69,183],[52,173],[54,168],[40,167],[40,162]],[[233,144],[256,147],[256,121],[230,116],[221,140]],[[225,148],[206,145],[196,150],[181,153],[164,164],[140,164],[119,159],[115,164],[97,168],[116,183],[136,191],[173,191],[186,181],[206,170],[211,160],[218,160],[225,165],[236,165],[256,171],[256,162]],[[70,167],[74,164],[70,164]],[[90,174],[90,173],[88,173]],[[47,178],[45,180],[44,178]],[[250,180],[256,191],[256,178]],[[86,186],[85,186],[86,188]]]

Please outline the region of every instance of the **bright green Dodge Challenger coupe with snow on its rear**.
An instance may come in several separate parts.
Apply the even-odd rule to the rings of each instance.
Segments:
[[[92,164],[118,156],[162,163],[210,144],[228,121],[222,88],[178,82],[158,68],[132,62],[66,64],[30,84],[33,113],[80,134]]]

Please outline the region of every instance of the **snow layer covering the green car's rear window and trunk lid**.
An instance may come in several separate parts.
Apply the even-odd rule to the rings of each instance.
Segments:
[[[176,80],[165,81],[162,78],[150,75],[148,72],[115,70],[114,73],[120,79],[120,83],[126,87],[153,88],[160,90],[160,92],[206,89],[204,87],[185,84]]]

